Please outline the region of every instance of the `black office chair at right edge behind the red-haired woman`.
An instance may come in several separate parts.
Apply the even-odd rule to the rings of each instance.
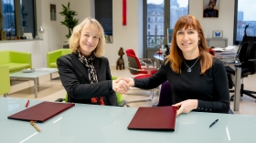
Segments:
[[[248,77],[249,75],[253,75],[256,73],[256,38],[244,38],[245,41],[242,42],[240,45],[239,51],[238,51],[238,57],[240,59],[241,65],[241,78]],[[235,75],[235,70],[230,68],[229,66],[226,66],[226,71],[228,74]],[[229,76],[228,76],[229,77]],[[229,77],[230,78],[230,77]],[[230,81],[231,79],[229,79]],[[230,84],[230,82],[229,82]],[[234,85],[233,82],[231,82],[232,86]],[[231,87],[229,85],[229,87]],[[229,92],[234,92],[234,90],[229,90]],[[243,94],[256,98],[252,94],[256,94],[255,91],[249,91],[245,90],[243,88],[243,82],[240,85],[240,97],[243,96]],[[234,100],[234,95],[230,97],[230,101]]]

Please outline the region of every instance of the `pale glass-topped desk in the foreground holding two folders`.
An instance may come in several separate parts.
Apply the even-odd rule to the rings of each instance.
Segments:
[[[191,112],[176,118],[176,131],[129,130],[135,107],[102,107],[76,104],[44,123],[7,117],[25,109],[26,99],[0,97],[0,142],[60,143],[254,143],[255,116]],[[41,101],[30,100],[29,107]],[[209,125],[219,119],[213,127]]]

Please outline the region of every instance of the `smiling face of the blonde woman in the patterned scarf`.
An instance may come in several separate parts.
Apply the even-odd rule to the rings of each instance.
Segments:
[[[84,56],[91,56],[91,52],[98,46],[100,30],[97,26],[87,23],[80,31],[80,52]]]

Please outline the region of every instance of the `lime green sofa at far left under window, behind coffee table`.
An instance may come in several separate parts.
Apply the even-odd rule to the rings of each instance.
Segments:
[[[8,66],[10,73],[15,73],[24,68],[31,68],[31,53],[19,51],[0,51],[0,66]]]

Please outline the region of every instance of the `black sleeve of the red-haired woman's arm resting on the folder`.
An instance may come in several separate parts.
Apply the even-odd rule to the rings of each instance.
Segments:
[[[214,97],[216,101],[198,100],[196,111],[228,113],[229,112],[229,86],[225,66],[215,58],[212,66],[212,77],[214,81]]]

